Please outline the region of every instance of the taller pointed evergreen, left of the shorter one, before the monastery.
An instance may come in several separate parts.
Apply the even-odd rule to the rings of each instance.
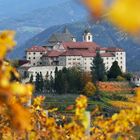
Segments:
[[[97,53],[96,57],[93,59],[91,75],[93,82],[105,81],[106,79],[105,65],[103,63],[103,59],[100,56],[100,53]]]

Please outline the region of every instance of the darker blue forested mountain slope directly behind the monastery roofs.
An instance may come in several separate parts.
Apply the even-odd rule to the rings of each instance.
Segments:
[[[111,26],[105,21],[89,23],[89,22],[76,22],[67,24],[70,32],[82,41],[83,31],[89,27],[93,33],[93,40],[103,47],[122,47],[127,53],[127,68],[129,71],[140,70],[140,44],[134,42],[126,33],[118,31],[115,27]],[[45,45],[50,35],[54,32],[61,32],[65,27],[64,25],[52,26],[40,34],[37,34],[28,40],[23,46],[15,50],[16,56],[23,56],[24,50],[32,45]],[[21,49],[22,48],[22,49]]]

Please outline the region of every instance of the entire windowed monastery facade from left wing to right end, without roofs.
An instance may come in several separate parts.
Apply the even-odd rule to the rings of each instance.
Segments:
[[[119,67],[122,72],[126,72],[126,53],[121,52],[112,52],[113,56],[102,56],[103,51],[101,51],[101,56],[105,64],[106,70],[109,70],[114,61],[118,62]],[[40,52],[27,52],[27,60],[30,60],[31,66],[63,66],[66,68],[78,66],[85,71],[90,71],[93,57],[83,57],[83,56],[59,56],[59,57],[48,57],[41,59],[44,53]]]

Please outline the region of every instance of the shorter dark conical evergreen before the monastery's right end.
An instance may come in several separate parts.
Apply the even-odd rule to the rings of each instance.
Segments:
[[[108,71],[108,79],[116,79],[118,76],[122,75],[122,71],[118,65],[117,61],[114,61],[110,70]]]

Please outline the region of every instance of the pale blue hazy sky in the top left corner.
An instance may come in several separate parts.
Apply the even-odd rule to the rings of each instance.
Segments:
[[[0,0],[0,16],[16,16],[68,0]]]

